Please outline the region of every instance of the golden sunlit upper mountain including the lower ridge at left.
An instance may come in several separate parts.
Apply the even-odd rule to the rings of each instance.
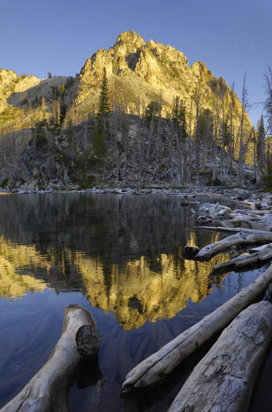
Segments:
[[[186,56],[171,46],[144,42],[133,30],[123,32],[109,50],[100,49],[87,58],[76,78],[54,76],[38,79],[33,74],[18,76],[12,70],[0,69],[0,125],[10,121],[17,113],[40,108],[42,103],[47,113],[51,112],[56,91],[65,86],[67,106],[74,101],[75,108],[86,115],[98,109],[103,68],[109,79],[110,100],[128,113],[142,114],[151,101],[162,100],[162,115],[172,112],[173,98],[184,100],[188,112],[192,96],[201,86],[204,95],[203,108],[212,110],[215,97],[225,94],[225,101],[232,105],[235,125],[240,121],[241,103],[226,84],[223,77],[215,78],[204,63],[197,61],[191,67]],[[44,98],[44,99],[43,99]],[[20,109],[20,111],[18,111]],[[194,113],[194,106],[193,106]],[[24,118],[25,118],[24,113]],[[80,119],[81,120],[81,117]],[[250,121],[245,115],[246,124]],[[27,122],[14,129],[28,127]],[[10,131],[10,130],[9,130]]]

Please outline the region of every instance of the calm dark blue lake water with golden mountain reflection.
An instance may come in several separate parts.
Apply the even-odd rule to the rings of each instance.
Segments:
[[[71,410],[167,410],[202,354],[163,385],[121,399],[126,374],[259,274],[211,275],[228,255],[186,260],[184,245],[204,246],[219,233],[194,229],[192,205],[183,202],[89,193],[0,196],[0,406],[40,369],[61,335],[65,308],[79,304],[92,313],[102,345],[95,371],[86,368],[75,379]]]

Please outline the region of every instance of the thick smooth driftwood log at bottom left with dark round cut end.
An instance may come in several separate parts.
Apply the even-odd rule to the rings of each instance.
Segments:
[[[92,315],[79,306],[67,307],[61,337],[50,357],[1,412],[69,412],[73,372],[82,357],[98,355],[100,344]]]

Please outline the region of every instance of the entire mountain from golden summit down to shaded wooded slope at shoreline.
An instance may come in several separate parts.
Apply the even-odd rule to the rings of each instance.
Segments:
[[[103,115],[102,130],[104,69],[112,113]],[[204,63],[190,67],[173,47],[124,32],[75,77],[0,69],[0,184],[16,190],[31,181],[41,190],[52,181],[86,188],[168,179],[180,186],[199,184],[200,172],[219,184],[233,183],[239,169],[241,185],[243,164],[255,158],[241,114],[236,94]]]

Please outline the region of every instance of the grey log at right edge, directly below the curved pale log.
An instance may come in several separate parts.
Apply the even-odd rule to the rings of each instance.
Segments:
[[[272,260],[272,244],[266,245],[266,248],[255,253],[241,255],[228,262],[219,263],[213,267],[213,273],[226,273],[249,265],[257,265],[268,260]]]

